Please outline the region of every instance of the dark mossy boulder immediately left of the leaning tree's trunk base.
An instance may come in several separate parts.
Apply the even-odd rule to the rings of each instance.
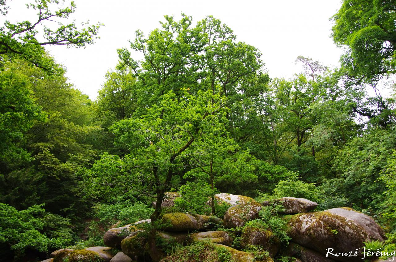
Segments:
[[[130,258],[143,257],[148,253],[146,247],[147,235],[144,230],[138,230],[121,241],[121,250]]]

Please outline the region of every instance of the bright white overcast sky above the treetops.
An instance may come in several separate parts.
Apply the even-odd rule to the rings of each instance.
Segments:
[[[36,11],[27,12],[23,3],[13,0],[7,19],[10,22],[34,21]],[[31,1],[32,2],[32,1]],[[132,1],[132,0],[74,0],[77,9],[72,15],[76,23],[89,19],[91,23],[104,23],[95,44],[85,49],[49,47],[58,63],[67,67],[69,81],[89,95],[97,96],[105,72],[117,64],[117,48],[127,47],[135,38],[135,30],[147,35],[164,21],[164,15],[183,12],[194,21],[213,15],[228,25],[238,41],[257,47],[263,56],[270,77],[290,78],[301,72],[294,65],[297,56],[303,55],[337,66],[342,50],[330,37],[332,22],[329,18],[341,7],[340,0],[261,0],[261,1]]]

